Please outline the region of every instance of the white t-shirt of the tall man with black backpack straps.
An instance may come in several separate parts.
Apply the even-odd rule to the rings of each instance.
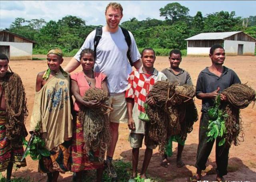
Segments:
[[[93,30],[84,41],[74,58],[80,62],[80,53],[84,48],[94,50],[94,37],[96,30]],[[132,62],[140,59],[140,53],[131,32],[130,57]],[[122,93],[126,90],[128,75],[132,67],[127,58],[128,45],[125,41],[122,29],[119,27],[115,33],[102,30],[102,36],[96,49],[95,72],[102,72],[107,76],[107,84],[110,94]]]

